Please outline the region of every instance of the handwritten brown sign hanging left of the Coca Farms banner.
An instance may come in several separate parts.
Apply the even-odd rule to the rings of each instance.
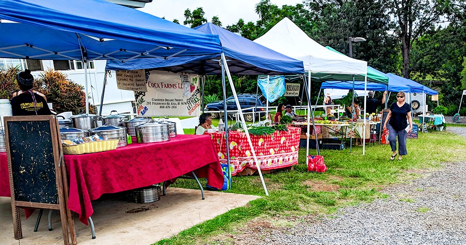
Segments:
[[[122,90],[147,92],[145,70],[116,71],[116,87]]]

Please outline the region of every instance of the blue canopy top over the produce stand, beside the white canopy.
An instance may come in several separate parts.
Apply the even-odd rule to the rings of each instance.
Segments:
[[[269,48],[253,43],[249,39],[227,31],[212,23],[206,23],[194,28],[220,38],[223,51],[228,60],[231,74],[236,75],[278,75],[303,74],[302,61],[287,57]],[[196,57],[179,57],[166,61],[160,59],[145,59],[118,63],[107,61],[107,70],[153,69],[171,72],[195,74],[221,74],[218,63],[219,55],[204,55]]]

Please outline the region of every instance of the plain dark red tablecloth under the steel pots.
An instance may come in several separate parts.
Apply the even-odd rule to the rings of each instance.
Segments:
[[[133,143],[114,151],[65,155],[65,163],[69,184],[68,208],[78,213],[79,220],[86,225],[94,212],[91,200],[105,193],[161,183],[193,170],[216,188],[220,189],[224,181],[215,147],[208,136],[179,135],[167,142]],[[1,165],[5,165],[3,161]],[[3,167],[0,184],[4,184],[2,172]],[[8,187],[8,176],[6,184]]]

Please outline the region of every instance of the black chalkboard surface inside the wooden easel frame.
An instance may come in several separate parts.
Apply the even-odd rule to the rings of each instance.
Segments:
[[[58,204],[49,121],[8,122],[15,200]]]

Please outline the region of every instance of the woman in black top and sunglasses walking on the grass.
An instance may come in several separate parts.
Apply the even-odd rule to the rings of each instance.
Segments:
[[[390,106],[387,118],[383,123],[383,129],[388,129],[388,140],[392,148],[392,156],[390,160],[395,160],[397,156],[397,135],[398,135],[398,160],[401,161],[403,155],[407,155],[406,138],[413,130],[413,118],[411,117],[411,107],[404,100],[406,94],[404,92],[397,93],[397,102]],[[388,125],[387,125],[388,122]],[[409,128],[408,127],[409,122]]]

